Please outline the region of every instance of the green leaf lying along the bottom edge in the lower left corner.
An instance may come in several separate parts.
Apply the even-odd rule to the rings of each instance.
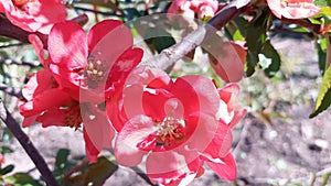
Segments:
[[[42,186],[40,182],[35,180],[26,173],[17,173],[12,176],[4,177],[3,180],[4,183],[14,186]]]

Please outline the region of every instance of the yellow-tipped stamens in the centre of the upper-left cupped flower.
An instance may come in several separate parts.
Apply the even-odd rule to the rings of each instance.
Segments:
[[[100,59],[97,59],[95,56],[89,55],[87,59],[87,66],[85,69],[86,77],[89,81],[100,81],[106,77],[107,67],[105,63]]]

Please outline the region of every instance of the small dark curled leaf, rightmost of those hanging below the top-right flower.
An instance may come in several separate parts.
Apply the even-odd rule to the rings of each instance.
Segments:
[[[261,53],[270,59],[270,65],[265,68],[265,74],[268,77],[274,77],[275,74],[280,69],[280,56],[275,47],[271,45],[270,41],[267,41],[261,50]]]

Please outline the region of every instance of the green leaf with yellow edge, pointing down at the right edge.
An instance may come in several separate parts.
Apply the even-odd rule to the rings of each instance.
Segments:
[[[320,88],[320,92],[318,99],[316,101],[314,110],[309,116],[309,118],[313,118],[328,109],[331,105],[331,66],[328,67],[324,73],[322,86]]]

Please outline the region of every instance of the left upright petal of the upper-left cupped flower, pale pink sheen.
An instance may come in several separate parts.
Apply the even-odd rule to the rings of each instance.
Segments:
[[[84,68],[87,62],[87,36],[73,21],[54,24],[49,35],[52,62],[67,70]]]

